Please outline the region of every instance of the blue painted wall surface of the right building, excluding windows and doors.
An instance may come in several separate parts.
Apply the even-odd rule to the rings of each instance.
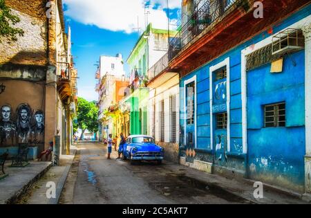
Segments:
[[[277,33],[310,15],[310,6],[280,21],[272,27]],[[249,154],[243,154],[242,125],[242,81],[241,51],[272,34],[271,29],[252,37],[249,41],[232,48],[216,60],[207,62],[196,71],[180,79],[180,156],[194,156],[195,160],[214,164],[214,172],[220,174],[241,174],[252,179],[281,185],[285,188],[303,191],[305,156],[305,113],[304,113],[304,51],[285,55],[283,73],[270,73],[271,64],[267,64],[247,73],[247,125]],[[215,161],[216,146],[211,146],[211,126],[215,125],[210,116],[209,69],[229,57],[230,85],[230,151],[225,161]],[[293,62],[296,66],[293,66]],[[187,113],[185,111],[186,80],[196,76],[197,87],[197,145],[195,154],[187,152],[184,130]],[[228,84],[227,84],[228,85]],[[287,127],[263,129],[263,108],[265,103],[281,102],[287,104]],[[213,140],[214,143],[216,140]],[[213,149],[211,149],[213,147]],[[249,161],[247,161],[249,157]]]

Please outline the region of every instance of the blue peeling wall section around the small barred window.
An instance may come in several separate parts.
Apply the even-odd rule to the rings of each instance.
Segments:
[[[249,176],[303,192],[304,51],[285,55],[283,72],[266,64],[247,73]],[[296,66],[294,66],[296,63]],[[285,102],[286,127],[264,128],[264,105]]]

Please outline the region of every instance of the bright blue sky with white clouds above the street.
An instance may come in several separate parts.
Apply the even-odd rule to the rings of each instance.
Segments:
[[[171,29],[176,28],[182,0],[169,0]],[[78,96],[97,100],[95,71],[100,55],[121,53],[126,62],[139,34],[148,23],[153,28],[167,29],[166,0],[64,0],[66,23],[72,32],[75,68],[78,70]],[[139,21],[139,22],[138,22]],[[129,66],[125,64],[129,73]]]

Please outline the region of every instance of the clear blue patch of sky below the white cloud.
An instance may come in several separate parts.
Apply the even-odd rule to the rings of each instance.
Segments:
[[[100,55],[115,56],[122,53],[124,61],[138,39],[138,33],[126,34],[100,29],[97,26],[80,24],[70,21],[72,28],[73,56],[76,57],[75,67],[78,69],[79,96],[87,100],[97,100],[95,92],[95,71]],[[125,66],[126,73],[128,66]]]

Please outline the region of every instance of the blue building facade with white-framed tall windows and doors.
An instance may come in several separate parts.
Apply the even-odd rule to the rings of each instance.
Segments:
[[[267,53],[281,31],[300,34],[310,13],[301,8],[180,79],[182,162],[304,192],[305,49]]]

